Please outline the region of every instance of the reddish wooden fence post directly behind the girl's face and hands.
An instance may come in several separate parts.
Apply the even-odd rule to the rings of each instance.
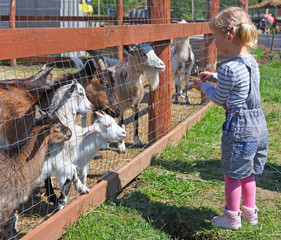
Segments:
[[[220,0],[206,0],[205,21],[210,21],[220,9]],[[216,71],[218,51],[214,43],[213,34],[204,34],[204,60],[205,70],[210,72]],[[201,92],[201,103],[207,101],[206,95]]]

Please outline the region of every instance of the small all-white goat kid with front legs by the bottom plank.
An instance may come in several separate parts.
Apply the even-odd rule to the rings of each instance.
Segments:
[[[119,141],[126,137],[126,131],[117,125],[111,116],[104,112],[96,112],[96,115],[98,118],[90,127],[83,128],[73,123],[73,126],[70,127],[71,130],[73,129],[70,141],[65,142],[58,155],[51,154],[44,163],[46,166],[53,167],[59,180],[61,187],[59,209],[62,209],[63,205],[67,203],[71,182],[77,181],[76,170],[78,170],[83,186],[88,189],[86,187],[88,167],[97,151],[107,146],[108,141]],[[64,158],[64,162],[60,161],[60,158]],[[74,164],[76,168],[66,169],[71,164]],[[41,174],[41,177],[46,176]]]

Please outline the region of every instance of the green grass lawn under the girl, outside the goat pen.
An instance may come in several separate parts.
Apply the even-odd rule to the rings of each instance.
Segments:
[[[177,146],[168,146],[132,184],[81,217],[62,239],[281,239],[280,67],[280,62],[260,66],[269,154],[264,174],[257,177],[257,226],[243,220],[243,228],[232,231],[210,223],[225,204],[224,110],[213,107]]]

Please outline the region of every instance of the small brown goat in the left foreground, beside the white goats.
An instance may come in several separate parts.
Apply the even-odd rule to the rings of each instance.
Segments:
[[[70,137],[69,128],[52,114],[36,120],[27,140],[20,146],[9,146],[7,150],[0,151],[0,222],[5,222],[4,239],[16,234],[17,217],[14,211],[31,194],[45,156],[50,154],[50,146],[56,145],[59,149],[62,142]]]

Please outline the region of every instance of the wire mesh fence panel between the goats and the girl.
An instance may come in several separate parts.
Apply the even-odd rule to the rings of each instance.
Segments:
[[[205,2],[171,1],[168,20],[208,21]],[[122,10],[118,3],[17,1],[16,28],[114,25],[120,24],[119,11],[123,24],[157,20],[151,18],[157,15],[151,15],[157,1],[123,1]],[[10,1],[1,6],[1,28],[8,28]],[[208,67],[206,42],[212,39],[209,34],[151,39],[124,45],[122,52],[113,46],[19,57],[16,66],[1,60],[1,230],[14,231],[15,210],[17,236],[24,236],[153,144],[157,139],[151,133],[164,136],[200,109],[205,98],[191,85]],[[170,54],[159,57],[170,46]],[[219,58],[218,63],[224,60]],[[167,96],[158,98],[166,91]],[[152,97],[158,105],[171,107],[154,116]]]

